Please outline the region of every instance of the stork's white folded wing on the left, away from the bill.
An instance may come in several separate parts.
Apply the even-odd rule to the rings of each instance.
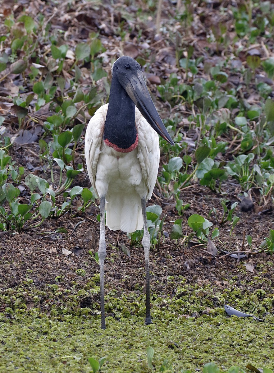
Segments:
[[[93,186],[97,196],[98,192],[95,189],[96,169],[101,150],[107,108],[108,104],[105,104],[96,110],[94,116],[89,120],[85,135],[86,169],[88,171],[91,185]]]

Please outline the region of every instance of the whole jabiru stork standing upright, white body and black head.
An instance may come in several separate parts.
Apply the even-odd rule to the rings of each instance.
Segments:
[[[160,134],[174,145],[145,84],[141,66],[122,56],[111,68],[108,104],[101,106],[88,123],[85,158],[88,176],[100,199],[101,328],[105,329],[104,260],[105,208],[109,229],[134,232],[144,228],[146,318],[152,323],[149,300],[149,248],[146,202],[158,174]],[[136,106],[136,107],[135,107]]]

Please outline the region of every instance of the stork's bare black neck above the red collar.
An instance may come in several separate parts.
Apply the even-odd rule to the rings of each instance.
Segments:
[[[110,87],[104,140],[117,148],[128,149],[136,141],[135,104],[113,76]]]

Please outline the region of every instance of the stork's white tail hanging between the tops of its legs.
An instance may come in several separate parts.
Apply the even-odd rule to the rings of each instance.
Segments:
[[[132,194],[112,194],[105,205],[106,223],[113,231],[132,233],[143,228],[141,198]]]

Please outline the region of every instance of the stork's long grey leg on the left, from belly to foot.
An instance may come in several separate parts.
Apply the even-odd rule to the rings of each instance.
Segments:
[[[101,328],[105,329],[105,300],[104,300],[104,262],[106,256],[105,245],[105,196],[100,198],[100,241],[98,258],[100,264],[100,295],[101,295]]]

